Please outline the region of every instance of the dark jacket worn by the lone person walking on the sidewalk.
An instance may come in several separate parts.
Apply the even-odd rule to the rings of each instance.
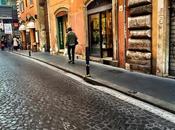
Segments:
[[[75,46],[77,41],[77,36],[74,32],[69,31],[66,38],[66,46]]]

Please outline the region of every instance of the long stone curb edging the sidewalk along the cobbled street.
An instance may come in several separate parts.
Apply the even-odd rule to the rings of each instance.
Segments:
[[[168,103],[166,101],[157,99],[155,97],[152,97],[152,96],[140,93],[140,92],[136,92],[136,91],[127,89],[127,88],[122,87],[122,86],[118,86],[116,84],[113,84],[113,83],[110,83],[110,82],[107,82],[107,81],[104,81],[104,80],[95,79],[95,78],[88,77],[88,76],[87,77],[83,76],[80,73],[73,72],[72,70],[66,69],[66,68],[64,68],[62,66],[59,66],[58,64],[49,63],[49,62],[44,61],[42,59],[35,58],[35,57],[32,57],[32,56],[28,56],[26,54],[21,54],[21,53],[18,53],[18,52],[13,52],[13,53],[21,55],[21,56],[25,56],[25,57],[30,57],[32,59],[35,59],[35,60],[38,60],[40,62],[46,63],[48,65],[51,65],[51,66],[56,67],[58,69],[61,69],[61,70],[65,71],[65,72],[67,72],[67,73],[71,73],[71,74],[74,74],[74,75],[76,75],[76,76],[78,76],[80,78],[83,78],[86,82],[89,82],[91,84],[101,85],[101,86],[105,86],[105,87],[111,88],[111,89],[113,89],[115,91],[119,91],[119,92],[121,92],[123,94],[126,94],[128,96],[131,96],[133,98],[136,98],[138,100],[141,100],[143,102],[149,103],[151,105],[154,105],[156,107],[159,107],[161,109],[164,109],[164,110],[166,110],[168,112],[171,112],[171,113],[175,114],[175,105],[174,104]]]

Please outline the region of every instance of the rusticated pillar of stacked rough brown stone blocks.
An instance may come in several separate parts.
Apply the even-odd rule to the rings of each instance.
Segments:
[[[128,0],[128,9],[126,66],[130,70],[151,73],[151,0]]]

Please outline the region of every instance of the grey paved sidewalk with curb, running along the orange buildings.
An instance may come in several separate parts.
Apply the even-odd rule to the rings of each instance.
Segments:
[[[13,53],[29,55],[28,51]],[[129,72],[95,62],[90,62],[91,77],[84,77],[86,74],[84,60],[76,59],[75,64],[69,64],[64,56],[42,52],[33,52],[31,58],[83,77],[90,83],[115,89],[175,114],[175,80],[173,79]]]

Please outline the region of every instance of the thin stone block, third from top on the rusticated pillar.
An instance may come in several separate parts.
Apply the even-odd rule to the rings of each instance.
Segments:
[[[129,31],[130,38],[151,38],[151,30],[134,30]]]

